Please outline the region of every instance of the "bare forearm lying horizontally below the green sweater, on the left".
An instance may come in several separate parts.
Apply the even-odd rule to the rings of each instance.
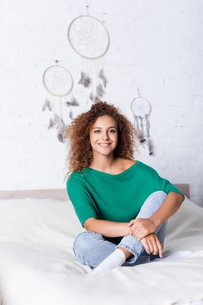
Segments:
[[[88,230],[94,233],[100,233],[106,237],[120,237],[129,235],[129,227],[127,227],[127,224],[95,219],[91,223],[91,226],[88,227]]]

